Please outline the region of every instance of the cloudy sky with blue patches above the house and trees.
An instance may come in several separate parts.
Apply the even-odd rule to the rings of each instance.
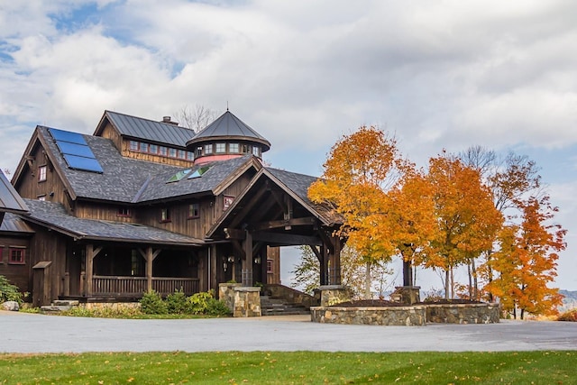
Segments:
[[[568,230],[555,286],[577,290],[575,20],[572,0],[0,0],[0,168],[36,124],[195,105],[228,106],[271,142],[264,160],[314,176],[365,124],[423,167],[515,151]]]

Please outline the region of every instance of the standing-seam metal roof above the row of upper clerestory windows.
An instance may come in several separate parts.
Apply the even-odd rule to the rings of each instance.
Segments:
[[[186,147],[188,140],[195,134],[193,130],[179,125],[156,122],[113,111],[105,111],[105,117],[116,127],[121,135],[151,142]]]

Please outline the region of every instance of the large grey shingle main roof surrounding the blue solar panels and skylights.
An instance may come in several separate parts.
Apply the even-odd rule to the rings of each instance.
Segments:
[[[197,170],[199,167],[206,166],[209,166],[209,170],[201,178],[185,178],[179,182],[167,183],[170,177],[179,170],[187,169],[124,158],[112,141],[91,135],[83,136],[104,172],[71,170],[51,139],[48,128],[39,126],[38,130],[46,142],[47,151],[52,154],[52,159],[62,170],[76,197],[110,200],[124,204],[210,193],[252,158],[251,155],[247,155],[202,166],[191,166],[188,170]]]

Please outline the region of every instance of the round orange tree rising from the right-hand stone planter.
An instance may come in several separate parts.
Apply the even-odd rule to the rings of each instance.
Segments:
[[[453,269],[490,250],[502,225],[479,170],[443,153],[429,160],[438,232],[426,265],[444,271],[445,298],[454,297]]]

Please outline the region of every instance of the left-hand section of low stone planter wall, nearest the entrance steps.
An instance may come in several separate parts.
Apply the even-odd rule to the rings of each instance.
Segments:
[[[426,307],[311,307],[311,321],[345,325],[426,325]]]

